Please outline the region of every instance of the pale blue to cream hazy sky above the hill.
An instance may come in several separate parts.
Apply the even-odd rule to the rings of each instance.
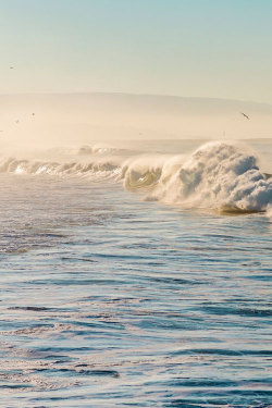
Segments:
[[[0,94],[272,103],[272,0],[0,0]]]

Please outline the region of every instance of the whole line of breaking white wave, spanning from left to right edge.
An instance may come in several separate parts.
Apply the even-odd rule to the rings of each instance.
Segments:
[[[96,150],[96,149],[94,149]],[[94,152],[92,150],[92,152]],[[106,152],[104,152],[106,153]],[[268,211],[272,208],[272,177],[262,173],[257,156],[228,143],[210,143],[190,156],[141,154],[92,158],[69,163],[2,160],[1,172],[95,175],[123,182],[124,188],[183,208],[222,211]]]

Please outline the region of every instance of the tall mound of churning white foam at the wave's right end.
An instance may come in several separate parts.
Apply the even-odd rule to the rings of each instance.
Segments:
[[[153,166],[143,173],[134,172],[131,166],[124,186],[132,189],[134,182],[138,187],[139,181],[146,186],[150,180],[151,191],[146,198],[166,203],[223,211],[264,211],[272,202],[272,180],[260,172],[257,157],[226,143],[200,147],[180,166],[171,160],[156,172]]]

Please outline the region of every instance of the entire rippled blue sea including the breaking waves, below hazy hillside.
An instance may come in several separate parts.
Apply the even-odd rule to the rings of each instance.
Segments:
[[[272,407],[272,143],[0,158],[2,407]]]

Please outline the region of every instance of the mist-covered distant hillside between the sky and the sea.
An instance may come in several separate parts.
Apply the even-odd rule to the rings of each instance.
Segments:
[[[2,140],[9,135],[51,144],[57,139],[268,138],[272,106],[124,94],[2,95],[0,129]]]

